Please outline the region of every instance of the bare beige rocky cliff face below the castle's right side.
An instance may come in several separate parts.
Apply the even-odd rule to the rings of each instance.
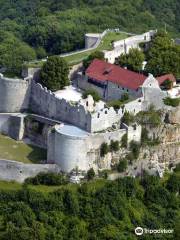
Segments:
[[[170,164],[180,162],[180,107],[170,108],[163,114],[162,124],[158,127],[146,126],[151,139],[158,139],[155,146],[144,146],[140,149],[137,160],[129,166],[130,175],[138,175],[142,169],[150,172],[163,172]],[[128,149],[120,149],[116,153],[108,153],[96,162],[100,169],[109,168],[129,153]]]

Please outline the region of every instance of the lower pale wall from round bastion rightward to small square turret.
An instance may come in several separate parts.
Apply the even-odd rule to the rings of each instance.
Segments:
[[[68,130],[67,130],[68,129]],[[128,143],[132,140],[140,142],[141,126],[116,129],[101,133],[87,133],[72,125],[56,125],[53,132],[48,136],[48,163],[61,166],[62,171],[70,172],[76,167],[87,171],[90,168],[102,170],[98,161],[103,161],[100,156],[102,143],[110,144],[111,140],[121,141],[127,133]],[[110,168],[112,158],[109,157],[106,167]]]

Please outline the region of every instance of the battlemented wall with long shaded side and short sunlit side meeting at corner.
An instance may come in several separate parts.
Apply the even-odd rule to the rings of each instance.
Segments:
[[[67,102],[59,99],[54,93],[32,81],[31,110],[37,114],[66,122],[82,128],[88,132],[98,132],[111,127],[120,120],[119,115],[113,108],[104,108],[97,113],[91,113],[87,107],[80,103]]]

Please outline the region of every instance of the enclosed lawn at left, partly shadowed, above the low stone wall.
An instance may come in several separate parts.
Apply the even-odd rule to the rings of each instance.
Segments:
[[[39,163],[46,159],[46,150],[0,135],[0,159]]]

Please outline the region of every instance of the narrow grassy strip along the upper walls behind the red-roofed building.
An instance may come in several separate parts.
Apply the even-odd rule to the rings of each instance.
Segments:
[[[128,35],[125,33],[116,33],[116,32],[109,32],[101,41],[100,45],[93,50],[89,50],[87,52],[82,53],[75,53],[71,56],[65,57],[66,61],[69,63],[69,65],[74,65],[80,63],[84,58],[86,58],[90,53],[94,51],[102,51],[102,50],[112,50],[112,42],[118,41],[121,39],[127,38]],[[28,64],[29,67],[41,67],[43,65],[43,62],[37,62]]]

